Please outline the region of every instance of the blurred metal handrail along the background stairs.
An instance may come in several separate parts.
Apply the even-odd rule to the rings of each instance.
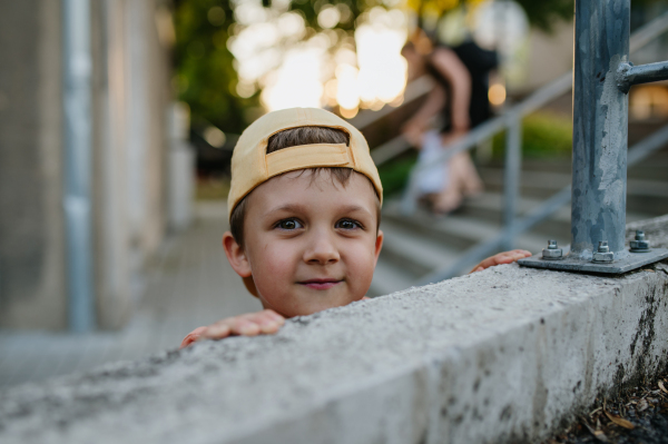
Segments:
[[[664,13],[633,32],[629,42],[630,51],[632,52],[642,48],[650,41],[660,37],[667,30],[668,13]],[[419,81],[420,85],[411,85],[409,88],[406,88],[406,91],[410,90],[411,95],[406,95],[407,97],[405,102],[419,98],[420,95],[418,92],[424,91],[424,93],[426,93],[430,90],[424,79],[419,79]],[[559,96],[567,93],[571,89],[572,72],[567,72],[530,95],[522,102],[511,107],[502,116],[488,120],[466,134],[461,139],[444,147],[443,154],[440,155],[439,158],[432,161],[429,166],[418,165],[413,168],[409,178],[409,185],[404,191],[401,203],[401,210],[406,216],[413,215],[416,210],[419,191],[415,179],[421,171],[436,162],[441,162],[444,166],[452,156],[470,150],[477,147],[479,144],[489,140],[495,134],[505,130],[503,229],[494,238],[479,243],[478,245],[471,247],[460,257],[460,260],[458,260],[456,264],[436,269],[435,272],[421,278],[416,285],[424,285],[456,276],[465,267],[477,264],[484,257],[500,249],[512,248],[514,245],[514,239],[518,235],[529,230],[540,221],[547,219],[554,211],[570,201],[571,187],[568,186],[552,197],[548,198],[537,208],[530,210],[522,218],[518,218],[517,216],[517,201],[520,191],[522,158],[522,119],[524,116],[538,110]],[[392,109],[387,110],[385,114],[383,114],[383,116],[377,116],[377,118],[375,115],[370,115],[373,116],[371,118],[367,116],[360,116],[355,124],[357,124],[358,127],[365,127],[391,111]],[[642,160],[652,151],[666,145],[666,142],[668,142],[668,126],[665,126],[660,130],[631,147],[628,152],[628,165],[630,166]],[[397,136],[394,139],[373,149],[372,158],[376,165],[382,165],[409,150],[410,148],[411,145],[402,136]]]

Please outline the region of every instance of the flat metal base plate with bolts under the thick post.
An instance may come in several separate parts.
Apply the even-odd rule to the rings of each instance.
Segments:
[[[668,248],[652,248],[648,253],[631,253],[628,257],[613,263],[595,263],[574,257],[571,258],[569,256],[566,256],[561,260],[549,260],[543,259],[540,254],[520,259],[518,263],[523,267],[531,268],[549,268],[563,272],[605,273],[620,275],[665,258],[668,258]]]

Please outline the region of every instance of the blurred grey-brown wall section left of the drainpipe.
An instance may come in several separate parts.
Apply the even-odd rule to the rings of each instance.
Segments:
[[[0,326],[62,328],[60,2],[0,1]]]

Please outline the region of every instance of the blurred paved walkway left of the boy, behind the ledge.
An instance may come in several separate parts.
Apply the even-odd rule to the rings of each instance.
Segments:
[[[199,204],[191,228],[165,245],[125,329],[91,335],[0,333],[0,388],[176,348],[195,327],[262,308],[223,253],[223,205]]]

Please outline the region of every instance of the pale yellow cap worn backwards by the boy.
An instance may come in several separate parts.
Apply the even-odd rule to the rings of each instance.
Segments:
[[[267,155],[269,137],[297,127],[328,127],[344,130],[350,144],[301,145]],[[320,108],[291,108],[269,112],[255,120],[239,137],[232,155],[232,186],[227,197],[227,216],[255,187],[274,176],[296,169],[343,167],[369,177],[381,204],[383,186],[362,132],[341,117]]]

